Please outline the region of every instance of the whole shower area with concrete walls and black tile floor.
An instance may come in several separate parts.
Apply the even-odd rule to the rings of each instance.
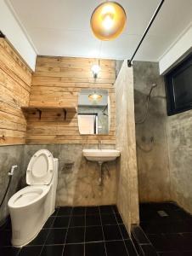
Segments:
[[[167,116],[158,63],[134,61],[139,255],[192,255],[192,110]],[[142,237],[142,238],[141,238]],[[152,245],[152,247],[151,247]]]

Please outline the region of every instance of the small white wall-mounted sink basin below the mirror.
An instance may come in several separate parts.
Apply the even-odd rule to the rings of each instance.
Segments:
[[[99,163],[116,160],[120,156],[120,151],[116,149],[83,149],[82,154],[89,161]]]

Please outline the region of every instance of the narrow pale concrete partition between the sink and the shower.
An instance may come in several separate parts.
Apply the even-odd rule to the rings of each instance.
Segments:
[[[127,230],[138,223],[138,171],[136,160],[133,68],[124,61],[116,79],[116,148],[119,175],[117,206]]]

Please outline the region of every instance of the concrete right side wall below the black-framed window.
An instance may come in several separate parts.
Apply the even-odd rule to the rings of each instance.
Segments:
[[[192,110],[167,118],[172,200],[192,213]]]

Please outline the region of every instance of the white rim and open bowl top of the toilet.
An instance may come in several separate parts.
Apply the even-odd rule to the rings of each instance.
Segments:
[[[49,186],[27,186],[24,189],[20,189],[10,198],[8,207],[28,207],[47,195],[49,189]]]

